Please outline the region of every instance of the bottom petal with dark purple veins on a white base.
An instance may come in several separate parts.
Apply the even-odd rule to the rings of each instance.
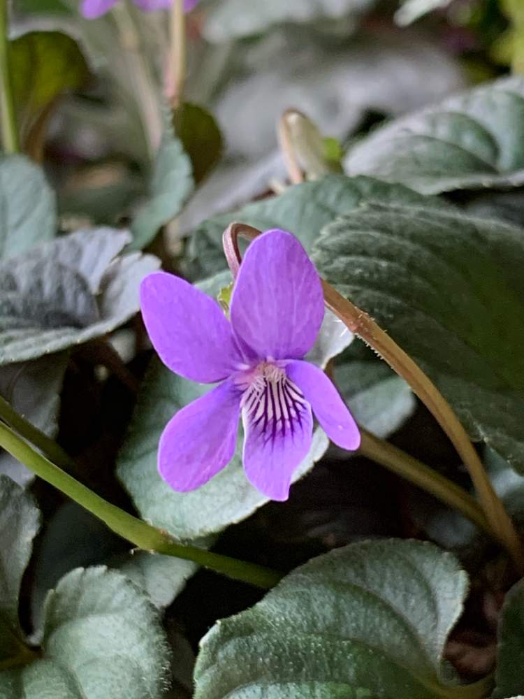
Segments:
[[[287,500],[293,471],[310,450],[311,407],[289,380],[266,382],[242,396],[244,470],[249,482],[271,500]]]

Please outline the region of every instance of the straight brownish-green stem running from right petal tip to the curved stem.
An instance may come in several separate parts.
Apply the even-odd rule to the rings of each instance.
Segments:
[[[422,461],[402,452],[402,449],[375,437],[362,427],[360,430],[361,448],[359,451],[363,456],[367,456],[368,459],[376,461],[393,473],[431,493],[435,498],[458,510],[476,526],[493,536],[493,530],[482,512],[481,506],[464,489],[426,466]]]

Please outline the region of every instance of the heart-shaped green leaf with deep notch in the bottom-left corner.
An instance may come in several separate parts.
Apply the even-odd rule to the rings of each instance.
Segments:
[[[18,596],[39,525],[29,493],[0,476],[2,699],[161,699],[169,651],[159,614],[119,572],[68,573],[45,600],[40,647],[26,644]]]

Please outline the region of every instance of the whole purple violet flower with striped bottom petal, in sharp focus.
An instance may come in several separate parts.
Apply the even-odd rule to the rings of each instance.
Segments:
[[[307,361],[324,315],[321,281],[299,241],[266,231],[249,245],[231,298],[231,322],[213,298],[166,272],[142,282],[147,333],[170,370],[220,382],[179,410],[159,443],[159,472],[194,490],[233,458],[242,415],[249,482],[286,500],[312,440],[312,411],[328,437],[358,449],[360,433],[323,371]]]

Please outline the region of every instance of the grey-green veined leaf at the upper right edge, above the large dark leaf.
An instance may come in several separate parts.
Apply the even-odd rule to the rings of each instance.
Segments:
[[[348,153],[349,175],[425,194],[524,182],[524,78],[504,78],[375,129]]]

